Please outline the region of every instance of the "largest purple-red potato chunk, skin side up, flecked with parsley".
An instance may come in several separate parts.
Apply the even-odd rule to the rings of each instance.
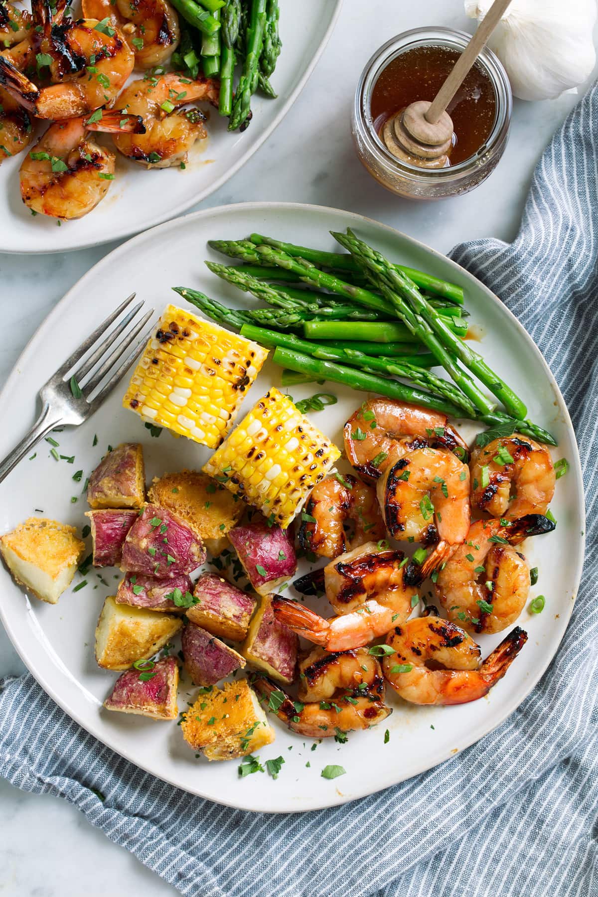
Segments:
[[[160,522],[152,524],[152,520]],[[204,561],[204,545],[193,530],[170,511],[146,505],[126,534],[120,569],[155,579],[174,579],[191,573]]]

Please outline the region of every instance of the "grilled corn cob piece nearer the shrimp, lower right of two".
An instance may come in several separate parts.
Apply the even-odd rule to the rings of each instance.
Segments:
[[[288,396],[272,388],[203,469],[285,528],[340,455]]]

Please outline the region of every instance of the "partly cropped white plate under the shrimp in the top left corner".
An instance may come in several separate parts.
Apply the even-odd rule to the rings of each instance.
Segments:
[[[175,218],[210,196],[243,165],[289,111],[312,73],[330,38],[342,0],[282,0],[280,31],[282,53],[272,76],[276,100],[257,93],[251,101],[254,117],[243,134],[227,131],[228,119],[216,109],[208,112],[208,137],[189,153],[185,170],[147,170],[117,152],[116,178],[108,195],[91,213],[78,221],[32,216],[23,204],[19,188],[22,154],[0,165],[0,252],[65,252],[97,246],[144,231]],[[135,71],[130,80],[142,78]],[[37,126],[39,134],[43,126]],[[100,143],[112,147],[107,135]],[[31,144],[29,151],[33,149]]]

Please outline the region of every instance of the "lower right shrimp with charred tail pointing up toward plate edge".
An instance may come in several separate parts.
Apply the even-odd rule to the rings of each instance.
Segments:
[[[490,692],[527,641],[519,626],[481,664],[480,646],[455,623],[438,616],[416,617],[386,639],[394,654],[382,668],[386,680],[412,704],[465,704]]]

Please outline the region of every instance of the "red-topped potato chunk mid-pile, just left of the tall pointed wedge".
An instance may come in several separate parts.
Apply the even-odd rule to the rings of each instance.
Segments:
[[[199,603],[190,607],[188,618],[225,639],[241,641],[247,635],[256,599],[215,573],[203,573],[195,583],[194,596]]]

